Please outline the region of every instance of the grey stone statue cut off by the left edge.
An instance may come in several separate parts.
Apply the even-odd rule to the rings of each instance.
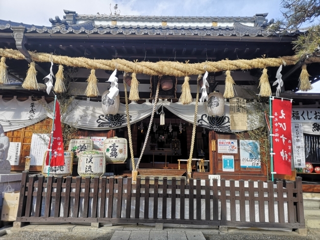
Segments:
[[[10,173],[11,165],[8,157],[10,141],[7,136],[4,135],[4,130],[0,124],[0,173],[7,174]]]

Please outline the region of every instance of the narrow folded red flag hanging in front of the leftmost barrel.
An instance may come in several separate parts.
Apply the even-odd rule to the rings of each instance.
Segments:
[[[64,149],[63,149],[63,138],[60,120],[60,106],[58,100],[55,103],[55,113],[54,113],[54,125],[53,125],[53,136],[52,136],[52,152],[50,167],[63,166],[64,165]],[[50,149],[51,136],[49,140]],[[47,151],[46,165],[49,166],[49,151]]]

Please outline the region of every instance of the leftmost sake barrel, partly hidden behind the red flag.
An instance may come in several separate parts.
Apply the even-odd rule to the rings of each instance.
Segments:
[[[47,151],[45,153],[43,164],[42,164],[42,175],[48,176],[48,167],[46,165],[46,155]],[[74,153],[72,151],[64,151],[64,165],[63,166],[55,166],[50,167],[49,175],[53,175],[55,177],[58,176],[68,176],[72,174],[72,168],[73,168],[73,162],[74,162]]]

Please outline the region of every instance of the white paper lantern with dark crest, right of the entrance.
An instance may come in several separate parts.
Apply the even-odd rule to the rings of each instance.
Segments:
[[[207,112],[211,117],[221,117],[224,114],[224,97],[222,93],[213,92],[209,94],[207,101]]]

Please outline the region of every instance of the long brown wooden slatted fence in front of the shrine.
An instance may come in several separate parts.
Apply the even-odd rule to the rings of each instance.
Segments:
[[[271,181],[240,180],[236,187],[234,180],[229,186],[224,179],[220,186],[217,180],[212,186],[209,179],[204,186],[190,180],[186,185],[172,178],[168,184],[167,178],[146,177],[132,184],[131,178],[45,178],[25,171],[17,221],[305,228],[300,177],[278,181],[276,188]]]

